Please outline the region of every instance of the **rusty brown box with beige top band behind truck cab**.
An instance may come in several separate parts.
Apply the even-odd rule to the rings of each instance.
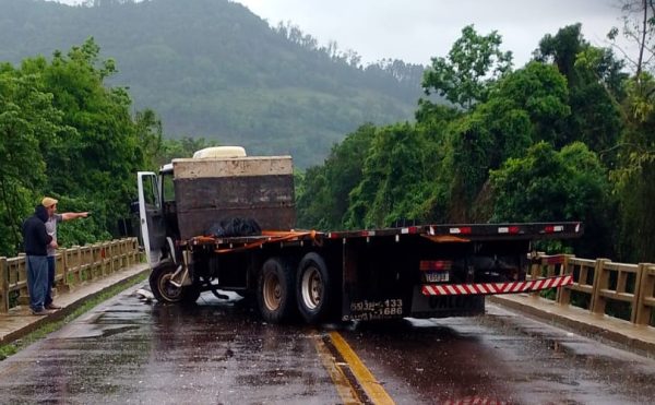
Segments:
[[[290,156],[172,160],[180,239],[206,235],[226,218],[252,218],[263,229],[296,223]]]

